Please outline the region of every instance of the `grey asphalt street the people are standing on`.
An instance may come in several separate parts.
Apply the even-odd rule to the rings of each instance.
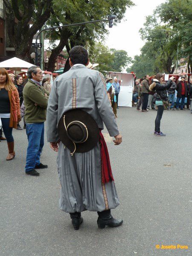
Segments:
[[[83,212],[84,223],[73,230],[58,209],[56,153],[48,143],[41,161],[49,168],[30,177],[25,130],[14,131],[15,160],[5,160],[6,142],[0,142],[0,256],[191,255],[192,114],[166,111],[161,127],[167,137],[153,135],[155,115],[118,111],[123,143],[108,143],[121,201],[112,213],[124,219],[116,229],[99,230],[96,212]],[[158,250],[157,244],[189,249]]]

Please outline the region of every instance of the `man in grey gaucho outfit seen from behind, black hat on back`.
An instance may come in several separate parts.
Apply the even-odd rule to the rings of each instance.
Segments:
[[[81,46],[73,47],[69,61],[70,70],[54,81],[47,108],[47,140],[50,147],[58,151],[60,209],[70,213],[75,230],[83,222],[81,212],[85,210],[98,213],[99,228],[118,227],[123,221],[111,215],[111,209],[119,205],[119,199],[101,133],[103,122],[110,136],[115,137],[115,145],[122,142],[122,136],[103,75],[86,67],[89,64],[87,50]],[[94,132],[91,126],[94,126]],[[78,139],[82,134],[87,136],[85,140]]]

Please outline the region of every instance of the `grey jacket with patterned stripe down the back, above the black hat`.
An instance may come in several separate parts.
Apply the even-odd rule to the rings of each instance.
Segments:
[[[84,65],[73,66],[53,83],[47,108],[47,141],[58,141],[57,125],[64,112],[80,108],[95,119],[99,128],[106,128],[111,137],[119,134],[108,99],[104,76]]]

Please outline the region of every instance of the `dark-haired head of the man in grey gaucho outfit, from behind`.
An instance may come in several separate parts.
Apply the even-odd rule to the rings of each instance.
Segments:
[[[87,50],[80,45],[75,46],[70,50],[69,58],[71,59],[71,62],[73,63],[73,65],[75,64],[86,65],[89,59]]]

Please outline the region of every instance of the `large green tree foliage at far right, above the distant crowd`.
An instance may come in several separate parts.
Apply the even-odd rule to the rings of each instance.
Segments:
[[[143,77],[147,73],[173,73],[178,59],[192,67],[192,0],[167,0],[146,17],[140,35],[145,40],[140,56],[128,69]],[[167,30],[167,31],[163,31]],[[143,67],[147,65],[147,67]]]

